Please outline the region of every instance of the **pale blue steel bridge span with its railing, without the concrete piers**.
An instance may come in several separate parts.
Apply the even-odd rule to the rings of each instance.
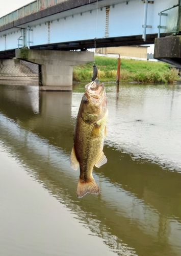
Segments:
[[[36,0],[0,18],[0,58],[21,47],[94,48],[95,37],[99,48],[153,44],[158,26],[162,37],[181,30],[179,8],[178,0]]]

